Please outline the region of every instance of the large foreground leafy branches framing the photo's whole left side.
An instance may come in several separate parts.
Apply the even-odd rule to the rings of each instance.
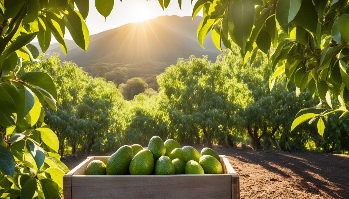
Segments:
[[[0,198],[61,198],[68,168],[57,153],[57,135],[44,122],[45,104],[57,109],[56,86],[45,72],[18,72],[38,57],[29,44],[35,37],[45,52],[52,34],[66,54],[67,28],[86,51],[88,2],[75,1],[80,14],[72,0],[0,1]]]

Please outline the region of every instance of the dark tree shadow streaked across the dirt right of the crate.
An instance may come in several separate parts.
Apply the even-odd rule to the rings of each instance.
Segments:
[[[294,180],[290,175],[298,178],[297,182],[291,185],[296,190],[319,196],[323,196],[323,192],[326,192],[329,196],[338,199],[349,198],[349,156],[270,150],[232,149],[232,151],[237,153],[231,158],[258,164],[284,177],[285,180],[287,178]],[[279,181],[279,179],[272,178],[270,181]]]

